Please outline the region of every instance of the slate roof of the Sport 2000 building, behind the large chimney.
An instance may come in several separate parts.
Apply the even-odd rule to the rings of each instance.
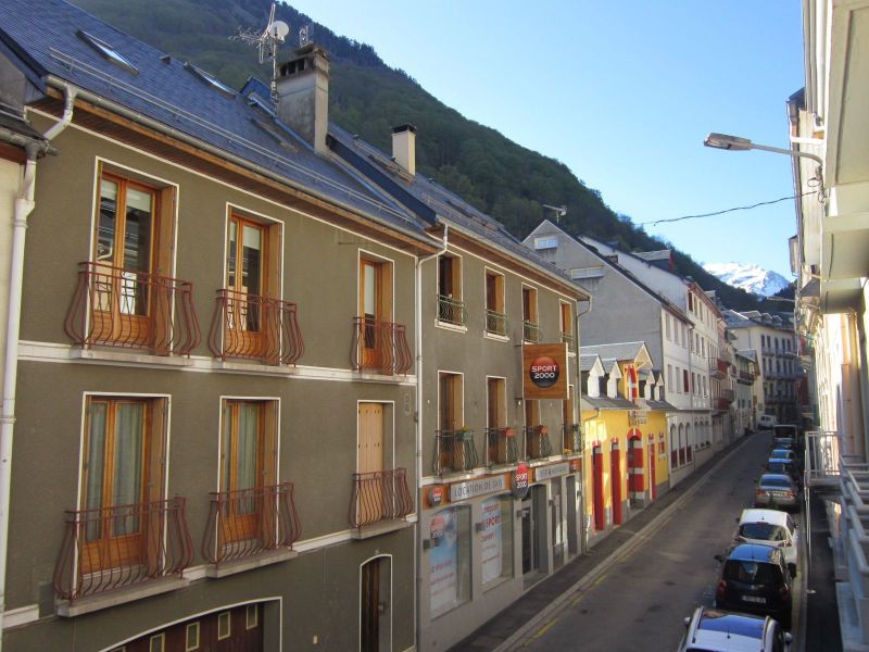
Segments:
[[[385,189],[391,192],[394,199],[406,209],[415,211],[421,218],[433,224],[437,217],[464,233],[489,240],[514,258],[533,265],[549,276],[566,281],[576,288],[577,292],[584,293],[567,273],[544,261],[504,228],[498,220],[478,211],[454,192],[418,172],[410,175],[406,171],[402,171],[390,155],[339,125],[330,123],[329,135],[335,139],[332,147],[339,155],[348,156],[347,160],[352,165],[364,166],[363,174],[375,175],[377,177],[375,180],[385,183]]]

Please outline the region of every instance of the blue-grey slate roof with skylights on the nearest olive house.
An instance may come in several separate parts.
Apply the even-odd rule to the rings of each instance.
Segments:
[[[81,33],[104,41],[138,72],[112,63]],[[185,62],[63,0],[0,0],[0,50],[37,87],[45,89],[50,77],[67,82],[265,168],[292,186],[424,237],[415,215],[316,154],[275,118],[267,101],[257,103],[249,93],[218,90]],[[248,88],[257,89],[256,85]]]

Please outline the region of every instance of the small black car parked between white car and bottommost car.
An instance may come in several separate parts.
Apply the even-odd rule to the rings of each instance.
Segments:
[[[722,562],[715,592],[717,609],[772,616],[791,628],[793,578],[780,548],[740,543]]]

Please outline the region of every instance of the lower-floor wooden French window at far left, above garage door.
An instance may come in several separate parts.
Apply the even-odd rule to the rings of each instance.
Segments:
[[[89,397],[81,509],[89,518],[81,572],[119,567],[159,554],[146,541],[143,505],[163,491],[165,400]]]

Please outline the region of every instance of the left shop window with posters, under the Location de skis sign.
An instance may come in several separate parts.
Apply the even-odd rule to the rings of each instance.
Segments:
[[[436,513],[429,537],[429,606],[438,617],[470,600],[470,509]]]

